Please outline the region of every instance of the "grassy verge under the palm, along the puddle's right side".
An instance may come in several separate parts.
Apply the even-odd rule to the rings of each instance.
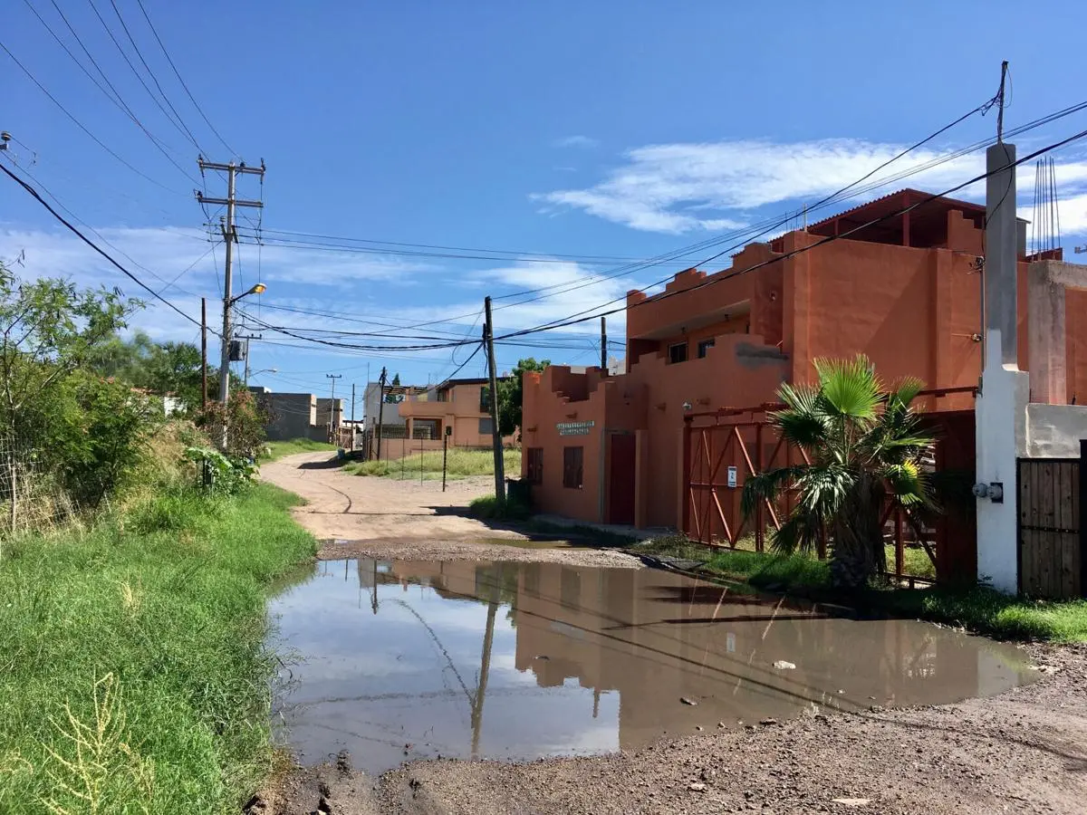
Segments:
[[[778,555],[744,549],[710,552],[682,537],[630,547],[632,552],[705,561],[713,575],[760,589],[785,591],[824,602],[966,628],[997,639],[1087,641],[1087,601],[1053,602],[1008,597],[985,587],[962,589],[867,589],[842,593],[830,586],[825,562],[802,554]],[[921,552],[927,561],[927,555]],[[892,556],[892,555],[891,555]]]

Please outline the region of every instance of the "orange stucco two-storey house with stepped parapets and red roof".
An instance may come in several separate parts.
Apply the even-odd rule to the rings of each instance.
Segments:
[[[985,208],[928,198],[902,190],[749,244],[721,272],[691,268],[655,296],[628,292],[626,374],[552,366],[525,375],[522,475],[537,506],[684,528],[685,415],[773,402],[782,383],[810,381],[820,356],[864,353],[887,380],[976,386]],[[878,223],[802,251],[870,222]],[[1019,362],[1027,369],[1028,259],[1019,265]],[[1087,292],[1067,298],[1064,398],[1083,402]],[[966,414],[973,427],[970,392],[924,408]]]

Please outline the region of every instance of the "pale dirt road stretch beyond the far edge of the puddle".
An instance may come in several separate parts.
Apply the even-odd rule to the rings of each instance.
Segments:
[[[323,541],[320,557],[549,561],[639,566],[611,550],[533,549],[523,534],[467,517],[472,499],[493,489],[490,476],[441,481],[348,475],[328,453],[300,453],[261,466],[261,478],[301,496],[295,517]],[[503,546],[502,541],[520,546]]]

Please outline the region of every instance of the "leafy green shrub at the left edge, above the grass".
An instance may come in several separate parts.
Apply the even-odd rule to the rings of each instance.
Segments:
[[[89,364],[139,305],[116,290],[21,280],[0,265],[0,439],[8,450],[0,501],[9,534],[33,519],[27,509],[43,489],[93,509],[132,480],[153,405]]]

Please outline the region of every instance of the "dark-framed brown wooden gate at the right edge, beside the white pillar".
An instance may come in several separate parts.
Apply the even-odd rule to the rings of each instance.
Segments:
[[[1038,598],[1084,595],[1079,459],[1020,459],[1020,592]]]

